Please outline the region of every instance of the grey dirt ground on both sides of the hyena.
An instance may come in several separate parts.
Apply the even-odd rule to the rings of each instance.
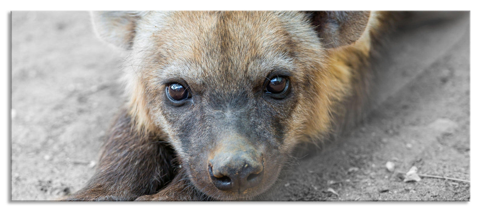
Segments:
[[[469,183],[406,183],[385,167],[470,180],[469,13],[430,15],[392,35],[367,120],[301,153],[259,200],[470,200]],[[59,200],[94,174],[125,102],[121,59],[95,37],[88,12],[12,12],[11,200]]]

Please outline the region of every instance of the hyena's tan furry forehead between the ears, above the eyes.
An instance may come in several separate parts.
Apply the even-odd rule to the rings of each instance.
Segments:
[[[134,50],[163,79],[263,79],[275,69],[296,74],[299,35],[309,30],[297,12],[151,12]]]

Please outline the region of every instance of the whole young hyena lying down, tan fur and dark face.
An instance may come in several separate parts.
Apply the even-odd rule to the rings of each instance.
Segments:
[[[387,12],[92,12],[127,105],[66,200],[254,200],[297,145],[362,117]]]

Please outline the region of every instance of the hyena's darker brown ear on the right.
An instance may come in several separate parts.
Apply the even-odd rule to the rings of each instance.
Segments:
[[[369,11],[307,12],[324,47],[334,48],[354,43],[363,34]]]

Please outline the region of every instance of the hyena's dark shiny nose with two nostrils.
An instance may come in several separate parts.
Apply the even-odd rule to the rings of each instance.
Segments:
[[[242,192],[253,188],[264,176],[264,159],[246,157],[252,154],[216,155],[209,163],[209,174],[216,188],[223,191]]]

